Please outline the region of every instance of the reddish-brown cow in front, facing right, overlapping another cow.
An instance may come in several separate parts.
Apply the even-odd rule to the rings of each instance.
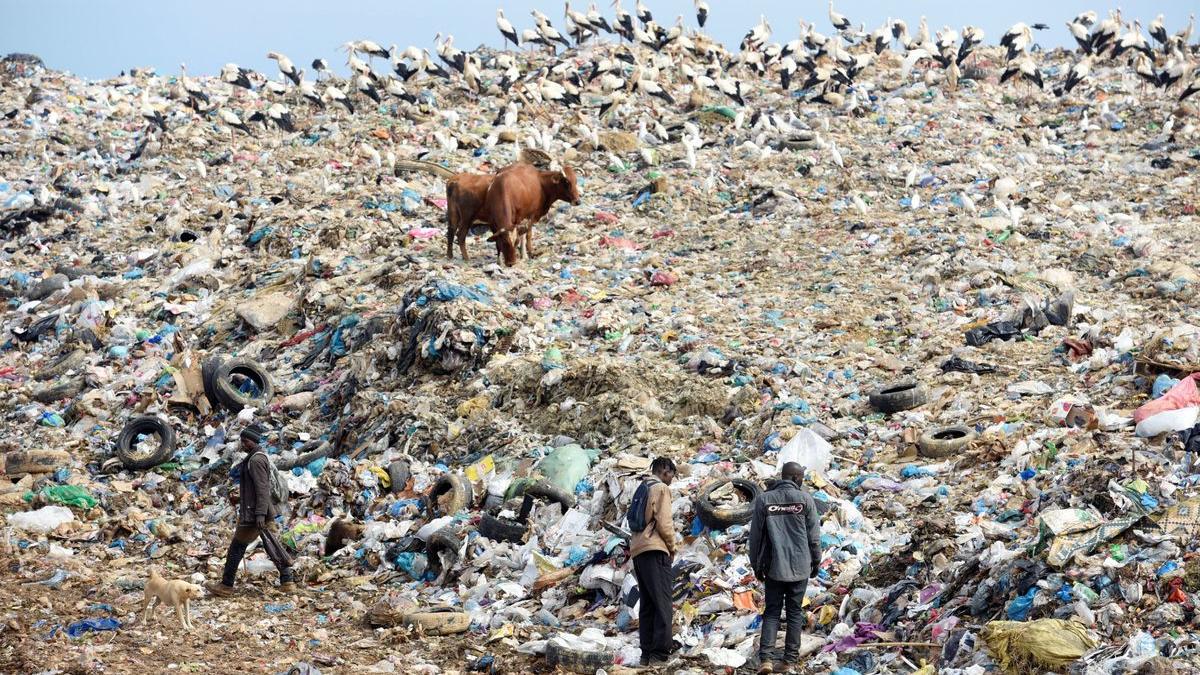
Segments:
[[[558,201],[580,203],[580,187],[571,167],[538,171],[532,165],[517,163],[496,174],[487,190],[484,215],[492,226],[492,239],[500,247],[505,265],[516,264],[522,235],[526,256],[534,256],[533,226]]]

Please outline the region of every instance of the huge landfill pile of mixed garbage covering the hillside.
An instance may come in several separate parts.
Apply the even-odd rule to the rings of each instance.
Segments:
[[[547,65],[478,54],[493,94],[500,56]],[[806,671],[1193,671],[1196,112],[1123,65],[1052,97],[995,47],[953,83],[888,56],[839,106],[664,68],[676,104],[594,127],[533,88],[505,123],[434,78],[350,112],[10,62],[0,670],[619,673],[622,522],[665,455],[673,671],[754,667],[746,524],[785,461],[822,510]],[[250,121],[278,101],[294,131]],[[522,149],[582,204],[515,267],[474,234],[444,257],[445,178],[397,161]],[[144,622],[151,567],[220,577],[254,423],[300,590],[256,548],[198,629]]]

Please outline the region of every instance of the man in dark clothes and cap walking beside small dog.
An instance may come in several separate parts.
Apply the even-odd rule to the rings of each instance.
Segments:
[[[241,449],[246,459],[238,465],[241,496],[238,503],[238,528],[233,532],[229,552],[226,554],[224,574],[221,583],[209,583],[208,590],[216,596],[233,595],[234,578],[238,575],[238,563],[246,555],[246,548],[254,537],[263,542],[263,550],[280,571],[280,591],[295,591],[292,580],[292,554],[283,548],[276,534],[275,516],[278,508],[271,502],[271,460],[259,448],[263,429],[258,425],[241,432]]]

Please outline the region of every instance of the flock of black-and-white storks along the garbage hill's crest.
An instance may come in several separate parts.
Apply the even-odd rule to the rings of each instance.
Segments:
[[[930,35],[924,17],[914,32],[900,19],[889,19],[884,25],[868,32],[865,26],[854,26],[829,2],[830,35],[817,31],[811,23],[800,20],[799,35],[786,43],[772,42],[773,30],[766,18],[754,25],[744,36],[740,49],[731,53],[703,32],[709,18],[704,0],[695,0],[698,29],[684,28],[684,18],[664,28],[650,10],[637,0],[631,14],[614,2],[614,17],[605,18],[593,4],[587,12],[565,7],[565,28],[558,30],[550,17],[540,11],[532,12],[534,25],[523,30],[497,11],[496,25],[504,44],[515,50],[464,52],[454,46],[454,37],[434,38],[437,60],[430,50],[419,47],[400,49],[395,44],[384,48],[370,40],[348,42],[346,50],[348,78],[336,77],[324,59],[312,61],[313,77],[299,68],[288,56],[270,52],[268,58],[278,65],[278,77],[227,64],[220,79],[230,88],[222,95],[197,79],[187,76],[182,67],[175,78],[169,97],[190,106],[197,114],[215,115],[233,130],[252,135],[251,125],[264,127],[275,125],[282,131],[296,131],[295,120],[287,102],[307,101],[314,108],[326,106],[344,107],[354,114],[356,106],[365,102],[376,106],[395,100],[408,104],[419,102],[419,92],[443,80],[442,86],[462,88],[469,96],[494,96],[503,100],[496,125],[511,127],[522,107],[538,103],[557,103],[578,113],[590,110],[600,126],[618,126],[619,120],[631,112],[650,110],[650,124],[655,119],[654,106],[682,106],[695,103],[706,96],[727,98],[739,107],[738,129],[745,121],[746,98],[751,96],[755,78],[778,78],[784,91],[798,86],[793,96],[812,103],[823,103],[845,112],[859,110],[872,90],[883,89],[882,80],[868,79],[868,73],[883,78],[888,68],[869,71],[872,64],[889,59],[898,65],[899,82],[895,86],[912,82],[914,70],[924,72],[928,84],[940,82],[947,90],[958,88],[959,77],[968,61],[978,59],[977,48],[984,41],[984,31],[967,25],[961,31],[944,28]],[[1159,90],[1171,90],[1180,101],[1200,91],[1198,46],[1193,44],[1194,16],[1187,26],[1170,34],[1163,25],[1162,14],[1150,24],[1150,38],[1142,34],[1140,20],[1126,19],[1120,10],[1099,20],[1096,12],[1085,12],[1067,23],[1078,42],[1074,65],[1052,86],[1058,96],[1070,94],[1087,80],[1092,68],[1104,62],[1136,77],[1144,85]],[[1034,55],[1039,52],[1034,31],[1045,30],[1045,24],[1019,23],[1000,38],[1004,68],[1001,83],[1026,83],[1027,86],[1045,90],[1045,73],[1038,68]],[[610,49],[586,49],[588,41],[608,34],[619,40]],[[574,46],[572,46],[574,41]],[[541,59],[521,58],[520,48],[546,52]],[[562,49],[562,50],[560,50]],[[376,70],[376,59],[386,60],[384,72]],[[541,64],[541,65],[536,65]],[[918,72],[919,72],[918,71]],[[230,106],[247,94],[258,91],[263,97],[251,106],[254,112],[239,114]],[[697,98],[698,97],[698,98]],[[683,98],[683,100],[682,100]],[[302,103],[300,103],[302,104]],[[370,103],[366,103],[370,104]],[[523,104],[523,106],[522,106]],[[163,117],[170,103],[164,98],[143,94],[142,114],[151,127],[166,132]],[[402,108],[403,106],[401,106]],[[752,123],[757,123],[763,110],[751,106]],[[443,115],[454,115],[443,110]],[[780,118],[768,110],[768,124]],[[245,117],[245,119],[244,119]],[[794,115],[791,115],[794,119]],[[581,114],[576,119],[583,120]],[[592,133],[592,127],[581,125]],[[456,141],[439,135],[443,149],[454,149]],[[488,144],[496,143],[493,132]],[[689,156],[691,154],[689,153]]]

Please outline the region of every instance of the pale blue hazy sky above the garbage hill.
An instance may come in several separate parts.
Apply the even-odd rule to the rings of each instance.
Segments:
[[[803,18],[815,22],[822,32],[832,32],[828,5],[820,0],[708,4],[712,13],[706,30],[731,47],[760,14],[770,20],[774,41],[794,38],[802,7]],[[572,8],[586,11],[587,5],[576,0]],[[598,5],[606,17],[612,17],[608,0]],[[624,0],[623,5],[632,12],[634,0]],[[910,23],[911,30],[924,14],[931,32],[942,25],[976,24],[986,31],[988,43],[995,43],[1019,20],[1044,22],[1050,30],[1038,36],[1039,42],[1055,47],[1070,41],[1066,20],[1084,10],[1103,14],[1117,5],[1126,17],[1141,18],[1144,26],[1163,13],[1168,30],[1175,32],[1187,23],[1189,12],[1200,7],[1200,0],[1124,0],[1108,5],[1073,0],[839,0],[836,10],[856,25],[865,23],[874,29],[904,7],[900,18]],[[678,14],[684,16],[685,25],[696,25],[691,0],[649,0],[647,6],[662,25],[673,24]],[[452,34],[455,46],[463,49],[480,43],[499,46],[497,7],[505,10],[518,31],[532,26],[529,10],[534,7],[548,14],[559,29],[565,23],[563,6],[550,0],[6,0],[0,5],[0,52],[29,52],[50,67],[97,78],[131,66],[174,73],[180,62],[187,62],[191,73],[215,73],[229,61],[274,77],[277,71],[265,58],[270,49],[283,52],[305,68],[313,58],[323,56],[335,70],[343,70],[346,56],[337,47],[347,40],[371,38],[384,47],[431,47],[440,31]]]

